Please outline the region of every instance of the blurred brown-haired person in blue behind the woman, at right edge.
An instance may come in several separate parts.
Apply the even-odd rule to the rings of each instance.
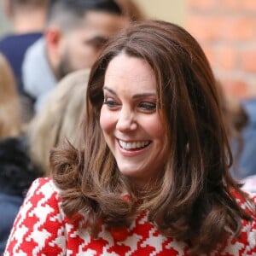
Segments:
[[[221,99],[221,109],[224,116],[224,125],[227,130],[227,135],[230,140],[230,145],[233,154],[233,165],[230,168],[230,173],[239,183],[241,183],[241,189],[255,193],[256,192],[256,175],[252,172],[251,175],[247,175],[243,169],[241,169],[241,156],[247,157],[249,161],[248,166],[252,166],[254,162],[254,147],[253,144],[255,137],[253,136],[252,125],[252,109],[251,113],[247,113],[245,105],[233,96],[224,94],[223,85],[218,82],[218,90]],[[247,100],[246,102],[252,102]],[[251,114],[251,115],[250,115]],[[252,133],[250,137],[247,137],[245,141],[244,135]],[[249,140],[250,138],[250,140]],[[245,144],[246,143],[246,144]],[[251,145],[251,146],[250,146]],[[244,147],[246,146],[246,151]],[[250,150],[248,150],[250,148]],[[256,166],[256,165],[255,165]],[[252,169],[253,170],[253,169]]]

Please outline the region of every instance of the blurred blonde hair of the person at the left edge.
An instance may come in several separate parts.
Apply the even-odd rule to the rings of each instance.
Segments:
[[[20,100],[15,86],[15,76],[9,63],[0,55],[0,139],[19,136]]]

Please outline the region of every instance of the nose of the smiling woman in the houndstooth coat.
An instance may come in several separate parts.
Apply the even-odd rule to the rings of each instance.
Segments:
[[[137,129],[135,114],[130,110],[122,109],[119,113],[119,119],[116,125],[119,131],[134,131]]]

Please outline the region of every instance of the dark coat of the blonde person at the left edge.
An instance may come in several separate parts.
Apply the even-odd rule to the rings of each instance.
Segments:
[[[25,137],[0,141],[0,255],[27,189],[41,176],[30,160]]]

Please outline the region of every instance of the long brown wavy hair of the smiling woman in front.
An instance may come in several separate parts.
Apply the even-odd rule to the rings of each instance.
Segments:
[[[99,122],[106,69],[120,53],[152,67],[157,108],[164,113],[169,155],[159,180],[144,193],[119,172]],[[113,38],[90,73],[84,147],[69,144],[50,157],[67,216],[84,213],[96,235],[99,219],[108,226],[129,225],[146,209],[162,234],[187,241],[196,254],[210,252],[230,234],[238,236],[241,218],[250,217],[230,192],[246,197],[229,174],[232,156],[215,81],[200,45],[180,26],[148,20]]]

